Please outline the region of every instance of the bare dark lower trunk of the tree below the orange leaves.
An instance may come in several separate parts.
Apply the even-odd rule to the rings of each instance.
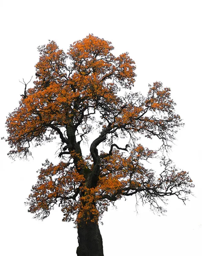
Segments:
[[[104,256],[99,226],[94,222],[78,224],[77,256]]]

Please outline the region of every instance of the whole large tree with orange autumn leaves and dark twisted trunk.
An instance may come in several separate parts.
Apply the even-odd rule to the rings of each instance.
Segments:
[[[163,213],[167,196],[187,200],[193,187],[187,172],[163,154],[159,176],[145,165],[171,147],[183,123],[162,83],[149,85],[146,97],[133,92],[135,62],[128,53],[115,57],[110,42],[88,35],[67,53],[54,41],[38,50],[34,87],[6,121],[9,155],[26,158],[31,143],[59,138],[59,162],[46,160],[26,204],[39,219],[58,204],[63,221],[78,228],[77,255],[103,256],[98,221],[110,204],[136,195]],[[159,150],[141,145],[143,137],[161,141]]]

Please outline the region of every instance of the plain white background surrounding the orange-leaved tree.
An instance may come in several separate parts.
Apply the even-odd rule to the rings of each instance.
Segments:
[[[111,41],[114,54],[129,52],[136,61],[135,90],[162,81],[171,88],[176,111],[185,122],[170,152],[176,166],[195,183],[187,205],[169,198],[166,216],[147,206],[135,212],[135,198],[118,202],[100,227],[105,256],[200,256],[202,240],[202,8],[196,0],[1,0],[0,2],[0,137],[6,137],[6,115],[18,105],[23,85],[35,77],[37,47],[55,40],[69,44],[93,33]],[[2,256],[76,256],[77,230],[63,223],[59,209],[45,221],[33,219],[24,201],[36,182],[36,171],[55,147],[33,149],[29,161],[12,162],[0,141],[0,232]],[[151,166],[153,167],[153,166]]]

